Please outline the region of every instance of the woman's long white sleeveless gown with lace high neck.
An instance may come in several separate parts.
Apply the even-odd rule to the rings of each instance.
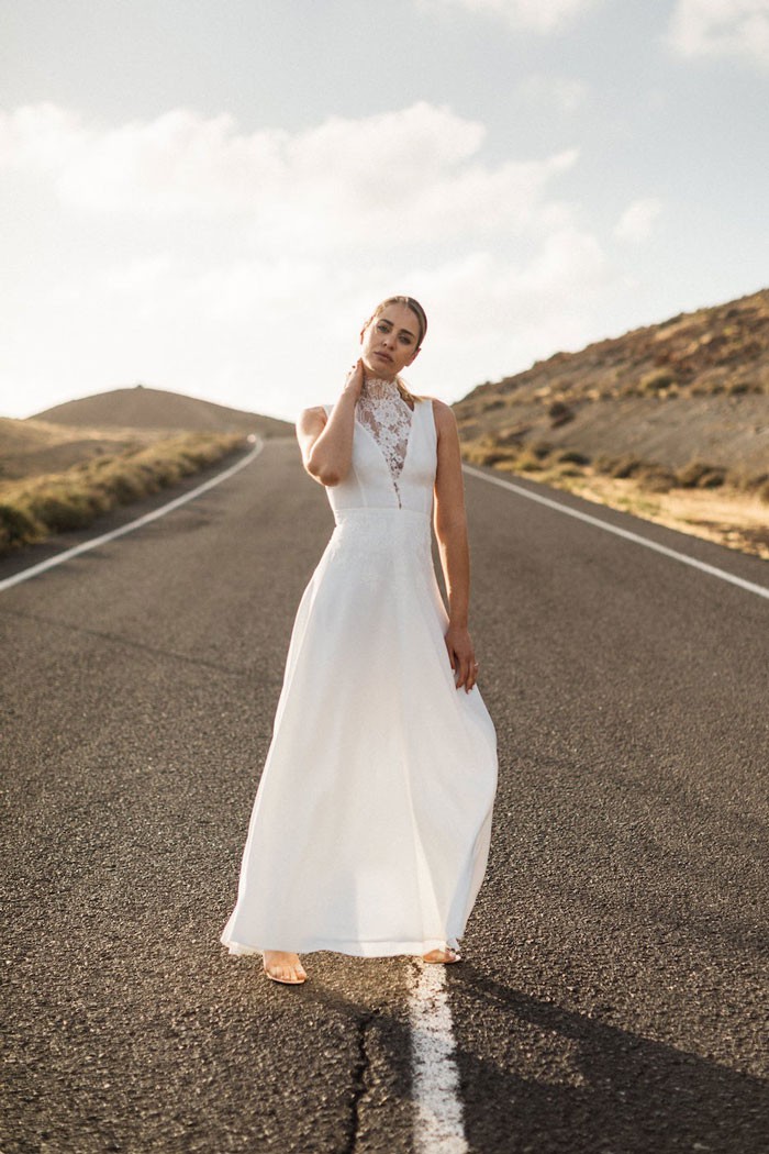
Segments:
[[[333,406],[325,405],[326,413]],[[336,527],[294,622],[229,953],[454,949],[483,881],[496,732],[457,689],[431,556],[437,434],[367,382]]]

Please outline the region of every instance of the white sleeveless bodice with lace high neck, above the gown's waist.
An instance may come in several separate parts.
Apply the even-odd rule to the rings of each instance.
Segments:
[[[327,414],[333,405],[323,406]],[[437,433],[432,402],[414,411],[393,381],[367,381],[355,405],[353,457],[347,477],[327,486],[337,522],[350,509],[432,510]]]

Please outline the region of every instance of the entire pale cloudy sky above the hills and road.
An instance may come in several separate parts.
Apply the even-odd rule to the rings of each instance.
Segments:
[[[769,285],[769,0],[0,0],[0,415],[446,402]]]

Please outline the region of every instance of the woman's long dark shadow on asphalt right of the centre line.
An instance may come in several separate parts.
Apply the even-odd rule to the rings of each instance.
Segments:
[[[462,1099],[475,1103],[466,1118],[473,1151],[769,1148],[769,1086],[760,1079],[538,1001],[469,965],[452,972],[454,982],[476,1020],[508,1024],[504,1065],[458,1054]]]

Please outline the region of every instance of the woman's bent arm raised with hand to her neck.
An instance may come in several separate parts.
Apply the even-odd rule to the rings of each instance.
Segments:
[[[302,464],[319,485],[339,485],[353,459],[355,403],[363,385],[363,365],[355,365],[331,417],[323,409],[304,409],[296,421]]]

